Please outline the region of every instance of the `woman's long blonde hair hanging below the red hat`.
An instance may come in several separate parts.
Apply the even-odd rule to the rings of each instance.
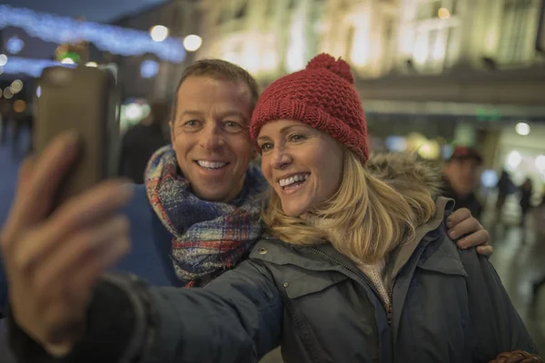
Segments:
[[[415,161],[409,155],[400,157],[398,162]],[[352,260],[377,262],[397,246],[413,240],[416,228],[435,214],[435,186],[426,181],[389,178],[388,173],[396,171],[388,170],[388,162],[386,157],[364,167],[353,152],[345,149],[341,186],[330,201],[302,217],[289,217],[278,195],[271,191],[263,221],[272,235],[288,243],[312,246],[330,241]],[[418,168],[409,170],[414,173]]]

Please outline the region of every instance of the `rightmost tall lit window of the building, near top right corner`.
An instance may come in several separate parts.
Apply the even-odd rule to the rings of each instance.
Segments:
[[[528,39],[532,36],[531,0],[505,0],[501,22],[498,57],[502,64],[520,64],[530,60]]]

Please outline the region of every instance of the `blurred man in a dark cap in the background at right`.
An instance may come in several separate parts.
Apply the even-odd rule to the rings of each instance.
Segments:
[[[456,202],[456,210],[467,208],[471,215],[481,218],[481,202],[475,196],[475,189],[479,185],[482,158],[475,149],[457,146],[451,158],[443,166],[445,180],[444,196]]]

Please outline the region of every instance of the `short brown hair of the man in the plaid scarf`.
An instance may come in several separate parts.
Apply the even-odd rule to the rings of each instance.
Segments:
[[[259,98],[259,85],[253,78],[252,74],[249,74],[248,71],[236,64],[232,64],[221,59],[202,59],[191,64],[183,71],[182,78],[176,87],[172,120],[174,120],[176,116],[176,109],[178,107],[178,92],[180,91],[180,87],[182,87],[183,81],[192,75],[207,76],[216,80],[241,82],[246,84],[250,89],[250,95],[252,97],[252,111],[255,107],[255,103],[257,103],[257,99]]]

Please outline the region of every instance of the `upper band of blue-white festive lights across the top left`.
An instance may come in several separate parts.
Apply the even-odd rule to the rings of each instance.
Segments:
[[[113,54],[152,53],[173,63],[182,63],[185,59],[183,41],[177,38],[168,37],[162,42],[155,42],[147,32],[0,5],[0,29],[7,26],[22,28],[31,36],[56,44],[85,40]]]

